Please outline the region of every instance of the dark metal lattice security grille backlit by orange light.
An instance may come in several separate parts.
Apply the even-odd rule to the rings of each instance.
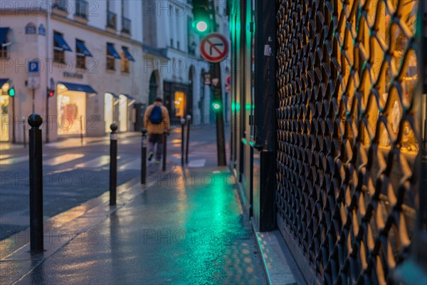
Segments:
[[[386,284],[408,257],[417,6],[277,1],[278,224],[325,284]]]

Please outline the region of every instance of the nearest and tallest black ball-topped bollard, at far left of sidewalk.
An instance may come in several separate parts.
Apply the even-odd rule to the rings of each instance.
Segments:
[[[43,252],[43,164],[40,115],[31,114],[28,124],[30,165],[30,249],[31,253]]]

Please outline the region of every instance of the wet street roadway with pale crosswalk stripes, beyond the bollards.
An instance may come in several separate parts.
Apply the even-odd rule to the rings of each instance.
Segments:
[[[216,136],[209,129],[192,128],[189,167],[216,165]],[[110,138],[68,138],[43,145],[43,215],[54,217],[102,195],[108,189]],[[9,148],[8,148],[9,147]],[[168,138],[167,169],[181,165],[181,128]],[[141,134],[120,133],[117,183],[139,179]],[[147,174],[161,165],[149,163]],[[0,242],[29,224],[28,146],[0,143]]]

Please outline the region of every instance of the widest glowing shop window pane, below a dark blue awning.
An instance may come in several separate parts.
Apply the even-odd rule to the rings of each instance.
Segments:
[[[85,134],[86,93],[58,85],[58,135]]]

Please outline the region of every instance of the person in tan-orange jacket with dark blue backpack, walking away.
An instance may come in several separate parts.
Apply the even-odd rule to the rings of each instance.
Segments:
[[[154,156],[154,147],[156,148],[156,164],[160,164],[162,158],[163,131],[166,130],[169,135],[171,131],[171,122],[169,112],[162,104],[162,98],[154,99],[154,103],[149,105],[144,114],[144,127],[148,132],[148,161]]]

